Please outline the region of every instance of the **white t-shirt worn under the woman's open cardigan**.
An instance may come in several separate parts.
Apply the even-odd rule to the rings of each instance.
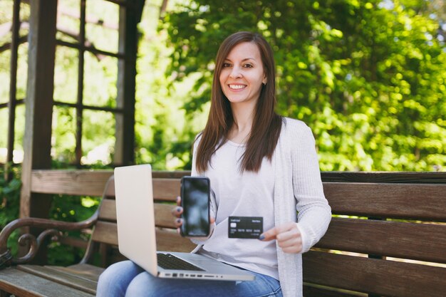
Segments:
[[[274,168],[265,157],[259,172],[239,170],[244,145],[227,141],[212,156],[206,176],[217,204],[212,236],[200,254],[279,279],[276,241],[228,237],[228,217],[263,217],[263,228],[274,227]]]

